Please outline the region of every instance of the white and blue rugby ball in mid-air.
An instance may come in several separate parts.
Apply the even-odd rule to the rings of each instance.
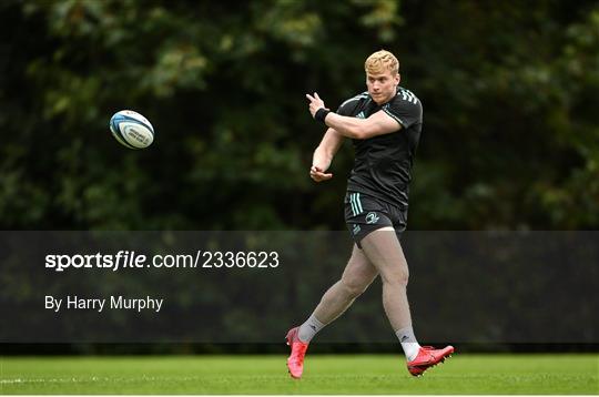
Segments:
[[[132,110],[114,113],[109,125],[116,141],[129,149],[144,149],[154,141],[154,128],[150,121]]]

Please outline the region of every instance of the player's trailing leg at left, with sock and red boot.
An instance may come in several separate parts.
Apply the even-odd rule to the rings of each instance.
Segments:
[[[292,353],[287,358],[287,368],[294,378],[302,377],[304,357],[309,340],[326,324],[341,316],[377,276],[377,269],[366,258],[362,250],[354,246],[352,257],[345,266],[342,278],[323,295],[314,313],[300,327],[287,333],[287,345]]]

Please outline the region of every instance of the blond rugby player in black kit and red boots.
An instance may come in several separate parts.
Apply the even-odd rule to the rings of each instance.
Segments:
[[[399,86],[399,62],[385,50],[366,59],[367,91],[329,111],[317,93],[306,94],[309,113],[327,130],[316,147],[309,176],[327,181],[334,155],[352,139],[355,162],[347,181],[345,221],[354,247],[338,282],[322,297],[312,315],[287,333],[287,368],[294,378],[304,369],[309,342],[341,316],[370,283],[380,276],[383,306],[404,349],[407,369],[420,376],[454,353],[453,346],[420,346],[412,326],[406,294],[408,266],[399,238],[406,230],[412,165],[423,126],[423,106]]]

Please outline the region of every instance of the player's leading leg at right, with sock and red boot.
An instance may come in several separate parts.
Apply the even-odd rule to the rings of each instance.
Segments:
[[[443,363],[454,353],[453,346],[443,349],[422,347],[412,328],[407,299],[409,271],[407,261],[393,227],[372,232],[362,241],[364,253],[378,269],[383,282],[383,306],[406,354],[408,370],[414,376]]]

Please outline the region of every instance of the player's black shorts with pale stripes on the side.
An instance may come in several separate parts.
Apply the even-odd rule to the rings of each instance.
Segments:
[[[395,230],[397,238],[407,226],[407,208],[402,210],[373,196],[357,192],[347,192],[345,195],[345,223],[356,245],[369,233],[390,226]]]

